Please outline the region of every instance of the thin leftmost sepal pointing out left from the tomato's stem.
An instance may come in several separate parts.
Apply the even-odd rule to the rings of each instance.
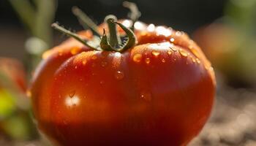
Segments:
[[[91,45],[89,45],[84,39],[82,39],[81,37],[78,36],[78,34],[72,33],[71,31],[65,29],[64,27],[59,26],[59,24],[57,23],[53,23],[51,25],[53,28],[55,28],[58,31],[61,31],[63,34],[68,35],[69,37],[73,37],[74,39],[78,40],[79,42],[81,42],[83,45],[86,45],[87,47],[91,47]],[[91,47],[94,50],[97,50],[94,47]]]

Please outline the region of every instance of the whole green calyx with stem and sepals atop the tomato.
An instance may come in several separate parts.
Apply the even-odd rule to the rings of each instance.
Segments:
[[[107,17],[105,17],[105,23],[108,24],[109,34],[107,35],[105,29],[103,29],[102,36],[99,34],[98,26],[88,17],[88,15],[82,12],[78,7],[72,8],[72,12],[75,16],[77,16],[83,28],[89,28],[91,32],[94,34],[94,38],[96,38],[95,40],[97,41],[83,39],[78,34],[75,34],[72,31],[69,31],[64,27],[59,26],[57,23],[53,23],[52,27],[58,31],[61,31],[61,33],[66,34],[69,37],[77,39],[79,42],[83,43],[83,45],[86,45],[87,47],[90,47],[93,50],[123,52],[124,50],[127,50],[130,47],[136,45],[137,39],[132,30],[133,24],[140,17],[140,12],[138,11],[138,8],[134,3],[124,1],[124,7],[128,7],[131,10],[129,18],[132,20],[132,27],[127,28],[122,23],[117,22],[116,16],[108,15]],[[118,34],[116,25],[123,29],[126,35],[121,37]]]

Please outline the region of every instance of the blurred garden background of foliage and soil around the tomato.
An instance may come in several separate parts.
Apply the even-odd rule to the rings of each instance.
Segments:
[[[55,20],[81,30],[71,7],[95,22],[127,18],[123,0],[0,1],[0,145],[49,145],[33,120],[26,87],[42,52],[66,39]],[[135,0],[141,21],[186,31],[217,72],[211,119],[190,145],[256,145],[256,0]]]

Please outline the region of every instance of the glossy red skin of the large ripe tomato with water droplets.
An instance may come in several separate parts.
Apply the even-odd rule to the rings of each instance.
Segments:
[[[214,100],[210,64],[187,37],[172,45],[174,36],[144,34],[124,53],[72,54],[72,45],[45,58],[31,95],[39,128],[56,145],[187,145],[199,133]]]

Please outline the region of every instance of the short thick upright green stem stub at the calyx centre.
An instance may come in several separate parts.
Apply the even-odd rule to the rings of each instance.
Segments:
[[[119,43],[121,42],[120,36],[118,34],[118,31],[116,31],[116,21],[117,18],[115,15],[108,15],[105,17],[105,22],[108,24],[108,30],[109,30],[109,44],[111,47],[119,47]]]

